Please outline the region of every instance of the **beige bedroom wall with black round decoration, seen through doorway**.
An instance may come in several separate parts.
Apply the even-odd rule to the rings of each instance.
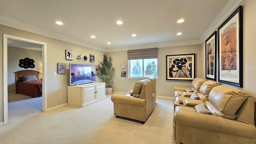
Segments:
[[[15,93],[15,74],[19,70],[36,70],[39,71],[39,79],[42,79],[42,49],[29,50],[24,48],[16,48],[8,46],[8,94]],[[19,60],[30,58],[34,60],[35,67],[24,69],[19,66]]]

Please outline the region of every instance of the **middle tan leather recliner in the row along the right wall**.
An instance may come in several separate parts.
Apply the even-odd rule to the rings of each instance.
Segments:
[[[220,84],[213,80],[204,81],[200,86],[198,93],[195,93],[196,96],[198,96],[198,99],[190,98],[190,96],[193,94],[192,92],[183,92],[182,96],[176,96],[174,98],[174,110],[176,106],[194,107],[198,104],[204,104],[204,102],[208,100],[208,96],[212,88],[218,85]],[[183,104],[179,104],[179,100],[182,100]]]

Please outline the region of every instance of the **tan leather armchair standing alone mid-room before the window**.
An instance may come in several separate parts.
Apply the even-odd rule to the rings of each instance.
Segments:
[[[154,110],[156,102],[156,94],[153,94],[154,84],[156,79],[140,80],[134,84],[132,96],[113,94],[111,100],[114,103],[114,115],[138,120],[144,124]]]

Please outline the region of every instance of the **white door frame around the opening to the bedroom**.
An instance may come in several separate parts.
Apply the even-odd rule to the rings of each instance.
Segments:
[[[8,123],[8,68],[7,68],[7,52],[8,52],[8,40],[17,40],[20,42],[28,42],[30,44],[38,44],[42,46],[42,111],[47,109],[47,96],[46,96],[46,43],[17,36],[11,36],[4,34],[3,38],[3,70],[4,70],[4,124]]]

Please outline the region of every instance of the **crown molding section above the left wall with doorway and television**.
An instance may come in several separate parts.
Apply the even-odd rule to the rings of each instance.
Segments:
[[[55,38],[57,40],[70,42],[70,43],[77,44],[77,45],[80,45],[80,46],[85,46],[85,47],[92,48],[92,49],[95,49],[95,50],[100,50],[100,51],[103,51],[103,52],[106,51],[105,48],[101,48],[99,46],[88,44],[86,42],[82,42],[80,40],[76,40],[74,38],[64,36],[62,34],[58,34],[56,32],[51,32],[51,31],[45,30],[43,28],[38,28],[36,26],[32,26],[32,25],[26,24],[24,22],[20,22],[18,20],[13,20],[11,18],[7,18],[7,17],[4,17],[4,16],[0,16],[0,24],[5,25],[5,26],[9,26],[9,27],[12,27],[12,28],[17,28],[17,29],[20,29],[20,30],[24,30],[24,31],[27,31],[27,32],[32,32],[32,33],[39,34],[39,35],[42,35],[42,36]]]

